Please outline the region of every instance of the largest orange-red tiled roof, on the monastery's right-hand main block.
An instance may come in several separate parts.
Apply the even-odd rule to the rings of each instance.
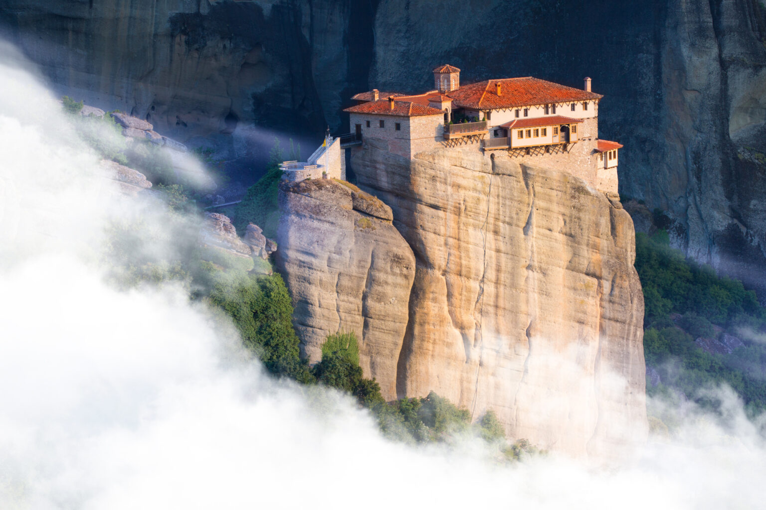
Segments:
[[[500,84],[500,96],[496,93],[497,83]],[[459,107],[484,110],[585,101],[604,97],[601,94],[532,78],[532,76],[472,83],[448,92],[447,95],[454,99]]]

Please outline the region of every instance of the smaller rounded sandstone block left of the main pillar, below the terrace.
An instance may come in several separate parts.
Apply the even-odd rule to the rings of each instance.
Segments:
[[[303,355],[318,361],[329,333],[353,331],[365,375],[396,398],[415,261],[391,208],[352,185],[316,179],[283,181],[280,209],[277,268],[293,296]]]

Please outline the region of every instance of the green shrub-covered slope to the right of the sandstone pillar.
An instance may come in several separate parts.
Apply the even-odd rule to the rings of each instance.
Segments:
[[[661,211],[655,211],[655,216],[666,218]],[[715,407],[718,404],[702,398],[699,390],[727,384],[738,392],[748,411],[766,409],[763,343],[745,339],[744,348],[727,356],[705,352],[694,342],[698,337],[714,338],[713,324],[735,333],[745,325],[748,330],[763,331],[766,312],[755,293],[671,249],[664,231],[651,238],[637,233],[636,269],[644,294],[644,355],[662,381],[659,386],[647,386],[647,393],[679,391],[686,398]],[[670,320],[671,313],[682,314],[678,326],[691,334]]]

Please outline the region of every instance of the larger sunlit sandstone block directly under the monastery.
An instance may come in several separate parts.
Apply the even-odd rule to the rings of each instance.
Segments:
[[[646,433],[630,216],[584,181],[460,151],[354,155],[416,259],[398,395],[428,391],[576,455]],[[389,377],[394,377],[390,374]]]

